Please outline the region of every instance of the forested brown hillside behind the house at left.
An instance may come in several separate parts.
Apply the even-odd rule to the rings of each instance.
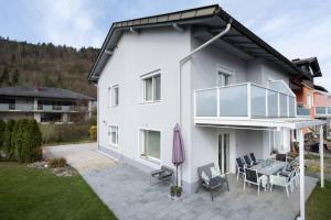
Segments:
[[[97,48],[31,44],[0,37],[0,87],[61,87],[96,97],[87,81]]]

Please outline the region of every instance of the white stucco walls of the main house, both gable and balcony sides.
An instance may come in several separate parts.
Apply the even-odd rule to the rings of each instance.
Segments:
[[[161,164],[172,166],[172,129],[178,118],[179,61],[203,42],[192,37],[189,30],[178,32],[161,28],[141,30],[139,34],[125,33],[117,50],[105,66],[98,80],[98,142],[126,157],[150,167],[158,165],[139,156],[139,129],[161,131]],[[235,172],[235,157],[254,152],[257,158],[269,155],[269,132],[197,128],[194,125],[193,91],[217,85],[217,67],[234,72],[232,84],[253,81],[267,86],[268,78],[288,78],[266,62],[244,61],[235,51],[223,51],[210,45],[196,53],[182,66],[182,133],[186,161],[183,164],[183,180],[195,183],[196,168],[217,162],[220,133],[229,134],[229,166]],[[161,101],[141,103],[141,75],[160,69]],[[119,106],[108,107],[108,88],[119,86]],[[119,146],[109,145],[108,125],[119,127]]]

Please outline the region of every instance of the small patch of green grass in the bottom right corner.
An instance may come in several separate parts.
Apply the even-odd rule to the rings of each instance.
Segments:
[[[319,183],[310,195],[306,206],[307,220],[330,220],[331,182],[325,182],[324,188],[321,188]]]

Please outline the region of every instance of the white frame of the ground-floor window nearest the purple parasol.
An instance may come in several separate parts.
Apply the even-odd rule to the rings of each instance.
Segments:
[[[145,153],[145,132],[146,131],[154,131],[154,132],[159,132],[160,133],[160,158],[153,157],[153,156],[149,156],[149,155],[143,155],[142,153]],[[151,128],[139,128],[138,129],[138,153],[139,153],[139,158],[145,161],[145,162],[149,162],[152,165],[160,165],[161,164],[161,158],[162,158],[162,131],[160,129],[151,129]]]

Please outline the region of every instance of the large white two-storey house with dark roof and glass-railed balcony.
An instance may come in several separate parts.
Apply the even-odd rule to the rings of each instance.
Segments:
[[[172,166],[173,127],[185,144],[184,189],[211,162],[290,151],[290,77],[305,73],[217,4],[113,24],[89,73],[98,88],[98,148],[143,170]],[[301,146],[303,147],[303,145]]]

